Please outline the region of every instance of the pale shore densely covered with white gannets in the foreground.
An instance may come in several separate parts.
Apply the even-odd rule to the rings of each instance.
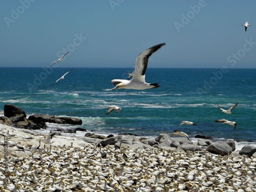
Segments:
[[[0,133],[1,191],[256,191],[256,158],[238,151],[144,147],[121,135],[115,144],[50,138],[2,124]]]

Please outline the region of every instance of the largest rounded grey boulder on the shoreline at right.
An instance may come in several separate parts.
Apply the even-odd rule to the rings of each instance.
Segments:
[[[216,141],[215,143],[210,144],[206,148],[206,151],[224,156],[224,155],[228,155],[228,152],[229,154],[231,154],[232,147],[223,141]]]

